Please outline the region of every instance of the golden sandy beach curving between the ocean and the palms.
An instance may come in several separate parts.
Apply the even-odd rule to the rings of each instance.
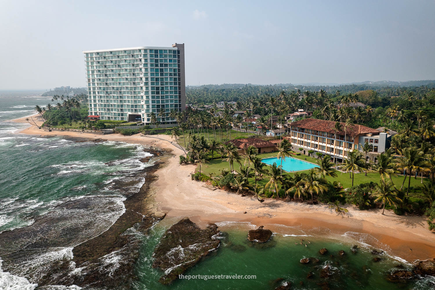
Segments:
[[[33,116],[41,123],[37,115]],[[17,120],[27,123],[25,118]],[[391,249],[391,255],[402,257],[412,262],[435,257],[435,233],[428,230],[425,217],[397,216],[391,211],[381,215],[381,209],[360,211],[345,205],[349,213],[337,216],[326,205],[307,205],[305,203],[285,202],[267,199],[263,203],[255,197],[241,197],[221,189],[211,190],[205,183],[191,180],[191,173],[196,165],[179,165],[178,155],[183,151],[172,145],[174,140],[169,135],[133,135],[119,134],[95,135],[68,131],[38,129],[34,125],[15,132],[30,135],[63,135],[90,139],[107,139],[147,146],[171,149],[173,157],[168,158],[167,166],[159,169],[158,179],[153,183],[157,192],[156,201],[162,212],[169,217],[189,216],[201,226],[218,222],[249,222],[264,225],[274,232],[285,233],[296,227],[306,232],[325,236],[350,235],[359,237],[361,242],[373,246],[385,246]],[[246,214],[244,212],[247,212]]]

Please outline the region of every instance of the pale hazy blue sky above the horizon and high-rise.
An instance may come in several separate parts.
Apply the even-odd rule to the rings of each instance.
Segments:
[[[84,87],[84,50],[175,42],[191,85],[435,79],[434,11],[433,0],[0,0],[0,89]]]

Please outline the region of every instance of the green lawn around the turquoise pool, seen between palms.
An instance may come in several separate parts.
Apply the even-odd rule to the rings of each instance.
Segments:
[[[268,157],[276,157],[278,153],[274,152],[274,153],[265,153],[265,154],[259,154],[258,157],[260,158],[268,158]],[[312,162],[312,163],[316,163],[317,158],[311,158],[305,155],[292,155],[292,157],[295,158],[299,158],[302,160],[305,160],[305,158],[307,158],[308,162]],[[243,163],[243,162],[242,162]],[[226,169],[226,170],[230,170],[230,166],[228,164],[228,162],[223,161],[223,159],[215,159],[215,160],[210,160],[210,163],[205,163],[203,165],[201,165],[201,173],[204,174],[209,174],[211,172],[214,173],[213,176],[218,176],[220,174],[220,170],[222,169]],[[240,169],[240,165],[237,162],[234,162],[234,170],[239,170]],[[199,171],[199,165],[197,166],[197,171]],[[305,171],[301,171],[301,172],[306,172]],[[336,171],[337,173],[337,177],[330,177],[330,176],[326,176],[326,179],[329,182],[334,182],[334,181],[338,181],[341,183],[341,186],[343,186],[343,188],[348,188],[352,186],[352,179],[349,178],[349,173],[341,173],[339,171]],[[293,175],[293,173],[288,173]],[[357,173],[355,174],[354,177],[354,185],[358,185],[361,183],[366,183],[366,182],[375,182],[378,183],[379,182],[379,178],[380,175],[378,173],[368,173],[367,176],[365,176],[364,173]],[[408,177],[409,178],[409,177]],[[402,186],[402,182],[403,182],[404,177],[402,175],[399,175],[398,177],[392,177],[392,180],[394,182],[394,184],[396,185],[396,187],[400,188],[400,186]],[[263,180],[258,181],[258,184],[260,185],[264,185],[269,181],[268,177],[265,176]],[[411,186],[419,186],[421,185],[421,178],[414,179],[414,176],[411,176]],[[429,182],[429,179],[427,178],[423,178],[423,183]],[[255,180],[253,178],[249,179],[249,183],[250,184],[254,184]],[[404,187],[408,186],[408,179],[406,179],[405,181],[405,185]]]

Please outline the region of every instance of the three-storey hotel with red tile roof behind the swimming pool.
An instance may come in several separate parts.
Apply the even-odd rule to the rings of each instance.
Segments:
[[[362,151],[361,145],[367,141],[373,145],[372,152],[368,154],[367,159],[376,162],[376,155],[384,152],[388,145],[387,133],[355,124],[349,125],[345,132],[345,123],[340,123],[341,130],[336,132],[335,123],[312,118],[292,122],[291,137],[288,137],[292,149],[302,148],[304,154],[308,154],[310,150],[321,152],[341,162],[347,157],[349,151]]]

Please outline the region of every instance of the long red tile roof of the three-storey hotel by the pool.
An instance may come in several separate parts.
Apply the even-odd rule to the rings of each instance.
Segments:
[[[325,121],[319,119],[305,119],[299,120],[291,123],[292,130],[294,127],[318,130],[322,132],[335,133],[335,123],[334,121]],[[341,131],[337,131],[337,134],[345,135],[345,123],[340,122]],[[380,132],[376,129],[369,128],[363,125],[351,124],[346,129],[346,135],[351,137],[356,137],[360,134],[374,133],[379,134]]]

